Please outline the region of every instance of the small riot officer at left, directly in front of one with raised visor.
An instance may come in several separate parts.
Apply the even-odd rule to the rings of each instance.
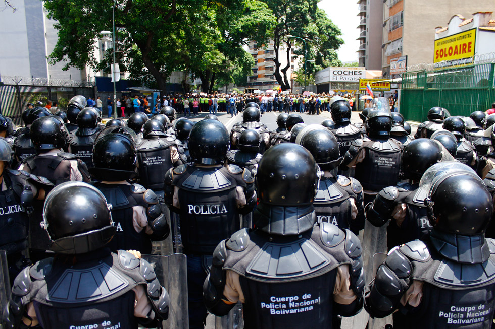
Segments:
[[[69,140],[69,153],[77,155],[88,168],[92,168],[93,145],[99,131],[96,113],[90,108],[83,109],[77,114],[77,126]]]

